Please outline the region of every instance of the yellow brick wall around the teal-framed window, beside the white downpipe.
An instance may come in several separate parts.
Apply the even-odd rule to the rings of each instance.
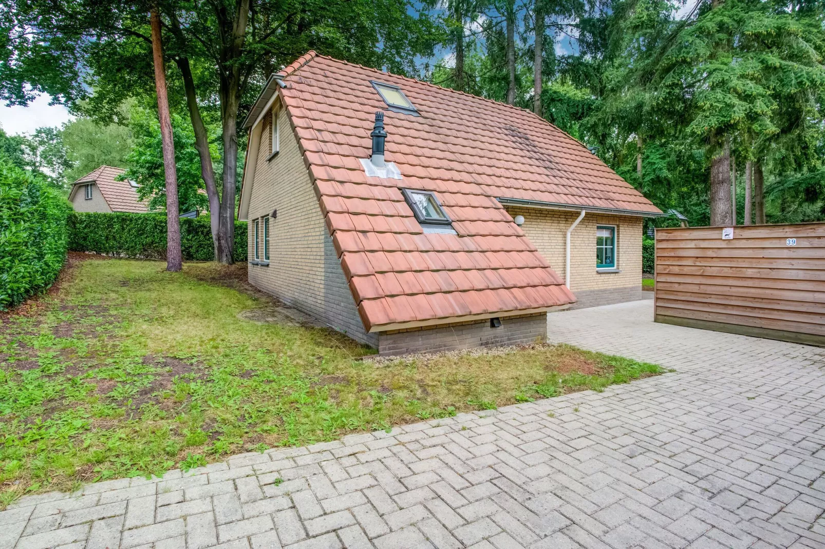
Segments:
[[[541,252],[550,266],[564,279],[565,244],[568,228],[578,212],[551,209],[507,207],[514,218],[524,216],[521,229]],[[596,270],[596,226],[615,225],[616,268],[620,273],[599,273]],[[570,289],[573,292],[592,289],[625,288],[642,284],[642,218],[601,215],[587,212],[570,235]]]

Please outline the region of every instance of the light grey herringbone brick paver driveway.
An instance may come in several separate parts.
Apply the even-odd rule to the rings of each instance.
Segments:
[[[27,497],[0,547],[825,547],[825,350],[651,316],[549,333],[676,373]]]

